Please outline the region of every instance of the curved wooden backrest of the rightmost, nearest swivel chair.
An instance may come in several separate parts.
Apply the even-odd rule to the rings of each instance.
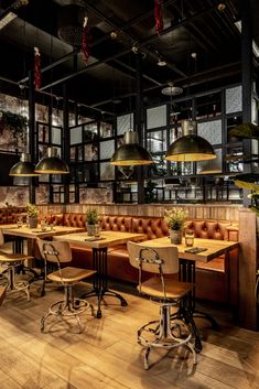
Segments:
[[[152,273],[175,274],[179,272],[179,249],[176,247],[145,247],[129,241],[130,264]]]

